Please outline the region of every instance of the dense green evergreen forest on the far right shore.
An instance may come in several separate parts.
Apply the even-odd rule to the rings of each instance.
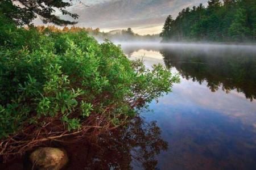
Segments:
[[[255,42],[255,0],[210,0],[185,8],[176,19],[169,15],[162,41]]]

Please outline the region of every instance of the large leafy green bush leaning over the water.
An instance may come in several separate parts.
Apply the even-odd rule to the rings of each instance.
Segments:
[[[33,134],[48,123],[51,134],[78,131],[92,115],[119,125],[178,80],[161,65],[145,69],[120,46],[98,44],[86,32],[39,33],[16,28],[3,16],[0,22],[2,139],[30,126]]]

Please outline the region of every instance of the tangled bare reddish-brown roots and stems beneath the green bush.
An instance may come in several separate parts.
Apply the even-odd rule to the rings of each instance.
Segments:
[[[73,143],[86,137],[96,139],[99,134],[117,128],[113,126],[104,114],[94,114],[81,122],[79,130],[68,131],[59,118],[44,119],[43,126],[29,125],[19,133],[4,139],[0,143],[0,156],[3,162],[23,155],[34,147],[46,145],[47,142],[56,141],[61,143]]]

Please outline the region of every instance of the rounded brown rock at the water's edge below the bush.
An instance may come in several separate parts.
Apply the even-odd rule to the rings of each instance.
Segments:
[[[52,147],[41,147],[30,155],[30,161],[34,169],[59,170],[68,163],[68,156],[65,150]]]

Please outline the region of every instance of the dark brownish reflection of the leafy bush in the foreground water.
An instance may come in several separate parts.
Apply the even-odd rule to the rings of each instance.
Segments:
[[[155,169],[155,156],[168,147],[160,134],[156,122],[136,117],[126,128],[98,138],[97,145],[69,146],[72,158],[68,169],[131,169],[132,160],[144,169]]]

